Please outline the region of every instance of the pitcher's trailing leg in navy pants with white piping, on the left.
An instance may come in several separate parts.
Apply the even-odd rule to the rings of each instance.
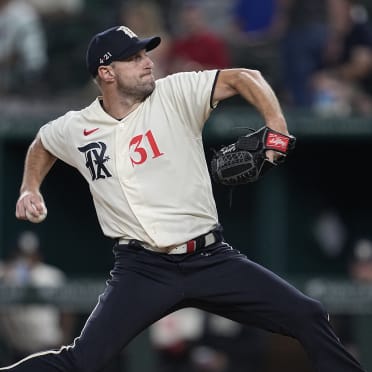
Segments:
[[[130,255],[135,257],[129,257]],[[87,320],[81,335],[60,351],[35,354],[0,370],[9,372],[95,372],[177,302],[174,278],[161,280],[156,262],[146,266],[135,253],[113,270],[111,284]],[[153,264],[152,264],[153,263]],[[156,265],[155,265],[156,267]],[[153,270],[153,272],[150,272]],[[168,284],[170,283],[170,284]]]

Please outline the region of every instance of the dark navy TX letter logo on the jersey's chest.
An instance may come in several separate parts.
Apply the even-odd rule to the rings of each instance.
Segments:
[[[85,165],[90,171],[92,181],[112,177],[106,167],[107,161],[110,160],[110,157],[106,155],[106,149],[106,144],[101,141],[78,147],[78,150],[85,154]]]

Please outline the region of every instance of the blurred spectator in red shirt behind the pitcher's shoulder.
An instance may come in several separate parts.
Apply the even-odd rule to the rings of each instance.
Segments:
[[[208,27],[198,1],[184,1],[175,14],[175,22],[179,29],[170,50],[170,73],[231,66],[225,40]]]

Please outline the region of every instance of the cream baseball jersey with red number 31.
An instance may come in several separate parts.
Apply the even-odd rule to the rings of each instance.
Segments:
[[[156,250],[217,225],[202,142],[217,74],[157,80],[153,93],[122,120],[108,115],[98,97],[40,129],[44,147],[88,181],[106,236]]]

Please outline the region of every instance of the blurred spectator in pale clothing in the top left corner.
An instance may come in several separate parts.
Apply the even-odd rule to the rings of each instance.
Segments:
[[[0,95],[41,85],[47,45],[38,13],[26,1],[0,0]]]

